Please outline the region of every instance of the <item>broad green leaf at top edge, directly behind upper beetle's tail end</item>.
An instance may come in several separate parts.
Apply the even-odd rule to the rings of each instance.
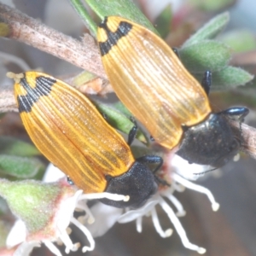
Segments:
[[[157,33],[154,26],[131,0],[104,0],[104,3],[102,3],[102,0],[84,1],[90,6],[96,15],[101,18],[101,20],[106,16],[121,16],[148,27],[148,29]]]

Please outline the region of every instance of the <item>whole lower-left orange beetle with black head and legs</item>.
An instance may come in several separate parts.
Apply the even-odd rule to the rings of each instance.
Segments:
[[[15,99],[32,142],[84,193],[129,195],[129,201],[101,199],[113,207],[140,207],[154,195],[154,177],[162,159],[137,160],[125,139],[102,117],[90,100],[46,73],[15,75]],[[136,135],[136,125],[129,141]],[[148,164],[155,164],[154,172]]]

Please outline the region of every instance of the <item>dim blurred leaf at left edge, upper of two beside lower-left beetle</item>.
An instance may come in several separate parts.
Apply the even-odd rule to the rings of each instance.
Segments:
[[[0,154],[16,156],[33,156],[41,154],[32,144],[22,142],[14,137],[0,137]]]

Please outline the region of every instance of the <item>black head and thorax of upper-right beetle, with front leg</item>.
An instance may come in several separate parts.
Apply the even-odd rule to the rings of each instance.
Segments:
[[[247,108],[230,108],[221,113],[212,113],[199,125],[184,131],[183,141],[177,154],[189,163],[224,166],[239,151],[241,137],[236,137],[230,120],[237,121],[248,113]]]

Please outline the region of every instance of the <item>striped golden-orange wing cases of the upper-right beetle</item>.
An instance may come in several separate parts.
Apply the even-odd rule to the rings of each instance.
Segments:
[[[113,90],[157,143],[174,148],[183,136],[182,125],[196,125],[211,113],[201,84],[154,32],[108,17],[97,39]]]

